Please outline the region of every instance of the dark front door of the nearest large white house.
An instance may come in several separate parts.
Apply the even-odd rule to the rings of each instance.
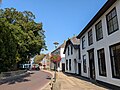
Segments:
[[[95,62],[94,62],[94,49],[88,51],[89,54],[89,70],[90,78],[95,79]]]

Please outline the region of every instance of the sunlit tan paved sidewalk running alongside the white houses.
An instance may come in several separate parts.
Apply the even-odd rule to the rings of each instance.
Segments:
[[[58,77],[56,83],[59,83],[61,90],[107,90],[104,87],[97,86],[91,82],[73,77],[72,75],[64,74],[62,72],[57,72],[57,75]],[[42,90],[51,90],[50,85],[47,85]]]

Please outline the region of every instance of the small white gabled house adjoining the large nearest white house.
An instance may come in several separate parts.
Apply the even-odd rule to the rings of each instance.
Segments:
[[[72,74],[81,74],[80,40],[75,36],[66,41],[65,54],[65,72]]]

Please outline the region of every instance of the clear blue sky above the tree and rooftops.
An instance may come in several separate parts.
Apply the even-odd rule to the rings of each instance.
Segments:
[[[78,35],[107,0],[2,0],[1,8],[31,11],[43,23],[48,53],[68,38]],[[58,46],[59,46],[58,45]]]

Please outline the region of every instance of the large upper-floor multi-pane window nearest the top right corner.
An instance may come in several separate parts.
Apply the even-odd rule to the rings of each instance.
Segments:
[[[116,8],[114,8],[110,13],[108,13],[106,19],[107,19],[108,35],[119,29]]]

